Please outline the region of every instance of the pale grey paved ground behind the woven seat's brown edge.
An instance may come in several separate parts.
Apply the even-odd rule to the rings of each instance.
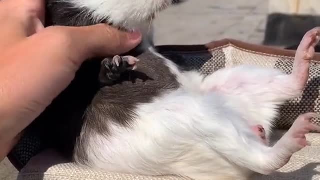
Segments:
[[[261,43],[268,0],[185,0],[161,12],[155,20],[155,44],[202,44],[222,38]],[[0,180],[17,171],[7,159]]]

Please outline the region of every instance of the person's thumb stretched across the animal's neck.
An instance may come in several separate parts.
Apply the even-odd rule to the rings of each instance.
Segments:
[[[72,41],[72,47],[69,48],[70,54],[80,55],[77,59],[81,60],[128,52],[142,39],[138,31],[124,32],[106,24],[66,28],[68,28],[67,33]]]

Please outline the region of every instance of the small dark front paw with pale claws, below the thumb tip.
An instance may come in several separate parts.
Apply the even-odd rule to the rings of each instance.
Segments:
[[[126,70],[135,70],[139,59],[133,56],[116,55],[112,59],[105,58],[101,62],[99,81],[102,85],[110,85]]]

